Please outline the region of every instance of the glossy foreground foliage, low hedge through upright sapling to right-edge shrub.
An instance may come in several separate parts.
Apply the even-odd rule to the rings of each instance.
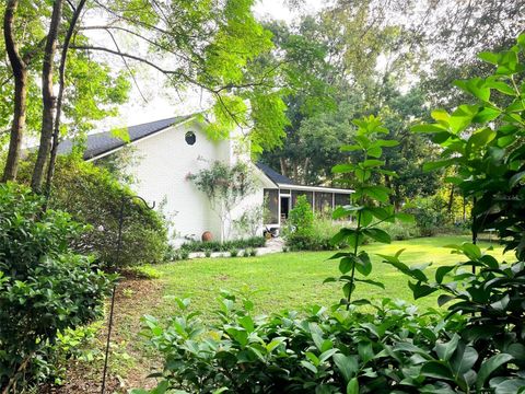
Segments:
[[[377,134],[387,132],[377,118],[355,120],[355,143],[342,150],[359,151],[362,160],[334,169],[353,177],[355,193],[350,205],[332,215],[352,216],[355,225],[334,236],[334,243],[346,240],[350,251],[331,257],[339,259],[341,275],[326,280],[342,282],[345,298],[330,312],[314,306],[304,317],[292,312],[253,317],[248,298],[223,292],[219,323],[203,325],[189,313],[164,327],[145,316],[150,340],[166,360],[158,374],[163,378],[158,392],[523,392],[525,107],[516,79],[525,71],[518,60],[524,51],[522,35],[508,51],[481,54],[497,66],[495,73],[456,83],[479,103],[460,105],[452,114],[433,112],[435,124],[415,127],[431,132],[443,147],[444,159],[427,169],[457,166],[458,176],[450,181],[474,199],[474,239],[495,228],[517,260],[499,262],[474,243],[454,244],[448,247],[462,259],[440,266],[431,280],[424,271],[430,264],[408,266],[400,250],[380,256],[409,278],[416,299],[441,291],[438,302],[450,303],[447,313],[431,310],[419,315],[412,306],[388,299],[381,304],[352,299],[358,286],[384,287],[366,278],[373,267],[362,248],[365,239],[389,243],[390,235],[377,225],[410,219],[395,212],[388,188],[372,183],[374,173],[395,176],[380,160],[383,148],[395,142],[377,139]],[[490,101],[491,90],[511,100]],[[187,300],[177,302],[182,309],[188,305]]]

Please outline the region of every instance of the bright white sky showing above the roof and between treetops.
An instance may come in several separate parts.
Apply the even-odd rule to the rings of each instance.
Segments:
[[[304,0],[300,10],[291,10],[283,0],[259,0],[254,7],[254,14],[260,20],[275,19],[292,23],[300,14],[315,13],[324,4],[326,4],[326,1],[323,0]],[[105,119],[101,123],[98,129],[154,121],[200,112],[210,106],[200,91],[188,90],[175,93],[173,90],[163,86],[164,77],[162,74],[148,67],[140,67],[139,70],[138,84],[140,92],[133,85],[130,100],[120,107],[119,116]],[[145,101],[142,96],[145,97]]]

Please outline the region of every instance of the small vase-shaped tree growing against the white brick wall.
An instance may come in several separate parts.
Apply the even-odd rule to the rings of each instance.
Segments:
[[[233,209],[255,190],[255,179],[247,164],[228,165],[214,161],[209,169],[189,174],[188,179],[208,197],[221,221],[221,242],[224,242],[230,236]]]

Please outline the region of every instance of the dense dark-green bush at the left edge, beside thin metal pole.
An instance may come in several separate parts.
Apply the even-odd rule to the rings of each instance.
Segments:
[[[15,184],[0,185],[0,387],[44,381],[58,336],[102,314],[110,277],[70,244],[85,228]],[[9,392],[9,390],[8,390]]]

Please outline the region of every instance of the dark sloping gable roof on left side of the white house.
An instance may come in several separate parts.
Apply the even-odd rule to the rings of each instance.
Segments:
[[[162,131],[170,126],[179,124],[186,119],[189,119],[192,115],[176,116],[167,119],[150,121],[141,125],[128,127],[129,141],[138,141],[142,138],[154,135]],[[112,131],[96,132],[88,136],[85,142],[84,160],[95,159],[104,153],[114,151],[115,149],[124,147],[126,141],[120,138],[114,137]],[[58,146],[58,154],[70,153],[73,148],[72,140],[65,140]]]

